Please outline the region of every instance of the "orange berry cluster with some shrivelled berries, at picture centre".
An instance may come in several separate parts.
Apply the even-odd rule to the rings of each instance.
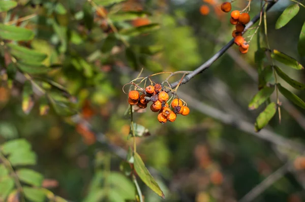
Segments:
[[[186,103],[181,99],[175,98],[169,103],[169,95],[162,89],[161,84],[155,86],[149,85],[145,88],[145,93],[141,94],[137,90],[131,90],[128,93],[128,103],[130,105],[138,105],[138,107],[144,109],[149,102],[153,102],[150,106],[150,110],[153,112],[159,112],[158,121],[160,123],[166,123],[167,121],[174,122],[177,115],[188,115],[190,109],[186,106]]]

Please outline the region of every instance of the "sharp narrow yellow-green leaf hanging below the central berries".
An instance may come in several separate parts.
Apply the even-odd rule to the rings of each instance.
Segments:
[[[153,191],[155,191],[159,196],[164,198],[164,194],[162,190],[160,189],[159,185],[153,178],[153,176],[150,175],[149,171],[146,169],[144,162],[142,161],[140,155],[138,153],[134,154],[135,162],[135,170],[141,180]]]

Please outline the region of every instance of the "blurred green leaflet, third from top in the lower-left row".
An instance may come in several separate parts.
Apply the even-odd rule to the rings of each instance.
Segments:
[[[29,185],[40,187],[43,181],[43,176],[31,169],[20,169],[17,172],[17,176],[21,182]]]

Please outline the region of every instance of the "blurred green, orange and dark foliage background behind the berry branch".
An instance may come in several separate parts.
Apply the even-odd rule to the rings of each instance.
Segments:
[[[136,78],[142,68],[144,77],[162,71],[196,69],[231,40],[234,26],[229,23],[229,14],[220,11],[219,5],[223,3],[220,0],[128,0],[105,8],[110,20],[119,11],[145,11],[148,15],[142,21],[113,20],[118,29],[136,27],[139,23],[159,23],[160,28],[126,38],[130,45],[127,47],[113,34],[107,20],[85,1],[56,1],[62,3],[66,12],[59,9],[49,15],[54,2],[33,1],[36,6],[20,6],[14,15],[38,14],[24,24],[36,32],[31,46],[48,54],[47,65],[63,65],[48,77],[66,86],[77,98],[75,107],[80,113],[63,117],[51,108],[47,115],[41,116],[40,106],[35,103],[32,111],[25,114],[21,104],[22,85],[17,83],[9,89],[2,82],[0,141],[16,138],[30,141],[38,155],[34,169],[48,179],[44,186],[68,200],[107,201],[99,195],[106,189],[114,195],[120,195],[122,190],[128,195],[133,184],[119,171],[122,159],[118,156],[122,154],[121,148],[127,150],[132,145],[127,140],[130,120],[124,116],[128,103],[123,85]],[[99,1],[95,2],[99,5]],[[39,6],[40,3],[43,5]],[[275,29],[276,20],[290,3],[280,0],[268,12],[267,37],[271,48],[289,54],[304,65],[305,58],[297,53],[297,41],[305,8],[300,8],[285,27]],[[247,4],[236,0],[232,7],[242,10]],[[251,18],[259,9],[260,1],[252,1]],[[4,15],[1,18],[8,20]],[[55,19],[59,28],[50,19]],[[261,47],[265,47],[263,32],[259,32]],[[160,124],[149,109],[135,114],[135,121],[150,133],[137,139],[137,151],[166,196],[162,199],[140,184],[145,201],[238,201],[286,162],[302,155],[255,135],[255,118],[263,108],[249,111],[248,104],[258,91],[254,58],[257,39],[257,36],[253,38],[247,54],[241,55],[238,47],[233,46],[208,70],[179,87],[177,94],[191,110],[188,116]],[[270,61],[266,59],[264,63]],[[304,71],[280,66],[292,78],[305,82]],[[152,79],[162,82],[166,76]],[[171,81],[178,79],[179,76]],[[305,99],[305,93],[282,84]],[[282,121],[279,123],[277,113],[267,130],[275,136],[304,143],[305,111],[284,98],[280,100]],[[236,122],[241,121],[252,125],[239,128]],[[292,166],[254,201],[304,201],[304,174],[296,169]]]

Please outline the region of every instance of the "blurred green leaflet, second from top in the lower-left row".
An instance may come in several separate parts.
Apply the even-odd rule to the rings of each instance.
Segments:
[[[21,151],[11,154],[8,160],[13,166],[17,165],[35,165],[36,164],[36,154],[32,151]]]

